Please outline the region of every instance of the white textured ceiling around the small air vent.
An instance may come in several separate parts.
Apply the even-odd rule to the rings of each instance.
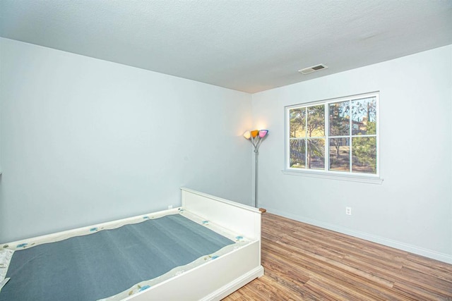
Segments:
[[[452,44],[452,0],[0,0],[0,36],[253,93]]]

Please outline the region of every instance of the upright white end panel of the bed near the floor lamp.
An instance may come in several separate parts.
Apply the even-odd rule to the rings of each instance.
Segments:
[[[182,207],[246,238],[261,240],[261,211],[221,197],[188,188],[182,190]]]

